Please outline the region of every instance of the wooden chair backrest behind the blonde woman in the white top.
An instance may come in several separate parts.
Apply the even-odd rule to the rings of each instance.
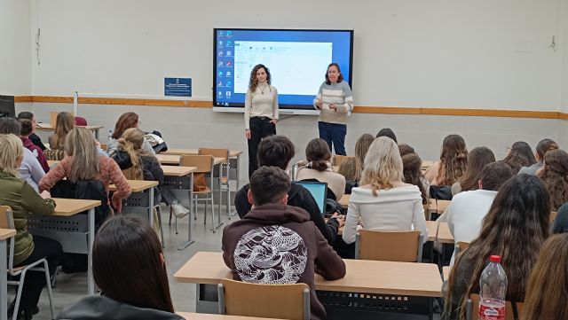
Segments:
[[[359,230],[355,243],[355,259],[421,262],[422,237],[419,230]]]

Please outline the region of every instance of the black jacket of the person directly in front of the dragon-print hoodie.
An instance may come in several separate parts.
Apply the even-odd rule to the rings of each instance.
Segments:
[[[248,214],[252,205],[248,202],[248,189],[250,186],[247,184],[237,191],[234,197],[234,207],[237,209],[237,214],[241,219]],[[288,191],[288,206],[301,207],[310,214],[310,220],[315,223],[321,234],[326,238],[327,243],[330,245],[334,243],[337,238],[337,230],[339,225],[335,219],[323,220],[323,215],[319,211],[318,203],[313,199],[312,193],[305,189],[303,186],[292,183]]]

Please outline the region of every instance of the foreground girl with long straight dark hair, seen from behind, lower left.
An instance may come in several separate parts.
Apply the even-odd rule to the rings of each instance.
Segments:
[[[101,295],[83,297],[57,319],[184,319],[174,314],[160,240],[138,217],[114,215],[100,227],[92,273]]]

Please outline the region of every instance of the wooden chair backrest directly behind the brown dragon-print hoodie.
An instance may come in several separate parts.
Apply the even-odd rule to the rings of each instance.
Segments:
[[[260,285],[222,279],[217,292],[222,315],[310,319],[310,289],[306,284]]]

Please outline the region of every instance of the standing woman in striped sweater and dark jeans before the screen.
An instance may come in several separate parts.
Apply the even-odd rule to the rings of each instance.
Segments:
[[[327,66],[326,81],[319,86],[318,97],[313,106],[319,110],[319,138],[325,140],[335,154],[345,152],[347,116],[353,110],[353,95],[349,83],[343,81],[343,74],[335,62]]]

